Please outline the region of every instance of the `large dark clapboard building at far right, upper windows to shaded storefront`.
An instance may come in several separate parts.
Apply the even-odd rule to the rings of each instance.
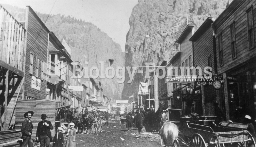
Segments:
[[[256,118],[256,0],[233,0],[213,22],[218,75],[227,120],[241,121],[244,115]],[[245,112],[237,113],[237,109]]]

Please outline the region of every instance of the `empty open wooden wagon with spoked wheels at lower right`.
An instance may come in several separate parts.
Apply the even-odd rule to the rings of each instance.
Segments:
[[[252,135],[246,130],[247,124],[222,122],[217,126],[214,118],[215,116],[180,117],[179,120],[170,121],[179,128],[179,135],[173,141],[173,146],[256,147]],[[168,145],[170,144],[163,146]]]

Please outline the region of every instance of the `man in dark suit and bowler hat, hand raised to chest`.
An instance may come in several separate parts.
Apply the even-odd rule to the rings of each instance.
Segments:
[[[41,115],[42,121],[38,123],[36,130],[36,140],[40,140],[40,147],[50,147],[50,141],[52,142],[52,134],[50,129],[53,129],[52,123],[46,120],[46,114]]]

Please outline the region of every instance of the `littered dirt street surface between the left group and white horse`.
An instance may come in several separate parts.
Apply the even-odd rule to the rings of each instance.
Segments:
[[[143,132],[138,134],[137,129],[127,131],[125,124],[120,120],[110,120],[109,126],[104,126],[99,134],[77,134],[76,147],[157,147],[161,146],[161,137],[157,133]]]

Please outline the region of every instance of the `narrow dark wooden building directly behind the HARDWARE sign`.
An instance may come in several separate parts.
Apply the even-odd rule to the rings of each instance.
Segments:
[[[204,76],[204,67],[212,67],[211,73],[216,76],[217,65],[214,60],[213,44],[215,43],[215,37],[213,36],[212,23],[213,18],[208,17],[204,23],[196,30],[194,35],[189,39],[193,43],[193,56],[195,67],[201,67],[202,73],[200,76]],[[199,71],[196,70],[196,75],[199,76]],[[217,90],[213,88],[212,83],[207,82],[205,85],[202,82],[196,83],[196,90],[200,90],[202,103],[197,106],[196,113],[204,116],[214,115],[214,103],[217,101]]]

